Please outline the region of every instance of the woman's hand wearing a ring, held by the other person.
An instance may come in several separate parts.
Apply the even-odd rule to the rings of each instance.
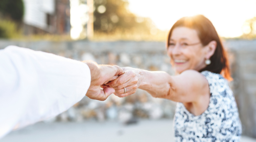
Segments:
[[[117,79],[107,83],[107,86],[115,89],[115,95],[118,97],[126,97],[134,94],[140,84],[139,70],[131,67],[122,68],[125,73],[120,75]],[[126,89],[126,93],[125,89]]]

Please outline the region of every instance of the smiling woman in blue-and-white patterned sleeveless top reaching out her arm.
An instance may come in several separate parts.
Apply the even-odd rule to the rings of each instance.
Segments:
[[[125,74],[107,85],[119,97],[140,88],[178,102],[176,142],[238,142],[242,130],[227,81],[229,62],[212,23],[203,15],[178,20],[168,34],[167,54],[177,75],[125,67]]]

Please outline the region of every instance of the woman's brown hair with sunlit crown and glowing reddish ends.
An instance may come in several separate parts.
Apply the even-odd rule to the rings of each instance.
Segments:
[[[201,69],[199,72],[208,70],[212,73],[222,74],[227,80],[232,80],[229,69],[229,61],[227,53],[223,48],[222,42],[216,32],[215,27],[211,21],[203,15],[195,15],[191,17],[183,17],[178,20],[170,29],[167,39],[167,47],[170,44],[171,34],[176,27],[188,27],[195,29],[198,33],[198,37],[203,46],[209,44],[211,41],[216,41],[217,46],[214,54],[210,57],[211,64]]]

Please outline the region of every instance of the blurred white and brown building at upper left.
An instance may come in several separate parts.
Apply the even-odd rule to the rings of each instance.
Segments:
[[[70,33],[69,0],[23,0],[24,34]]]

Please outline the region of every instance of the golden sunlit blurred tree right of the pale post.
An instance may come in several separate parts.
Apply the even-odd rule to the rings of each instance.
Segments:
[[[94,0],[94,31],[150,33],[156,29],[149,18],[137,17],[128,10],[126,0]],[[151,31],[152,32],[152,31]]]

